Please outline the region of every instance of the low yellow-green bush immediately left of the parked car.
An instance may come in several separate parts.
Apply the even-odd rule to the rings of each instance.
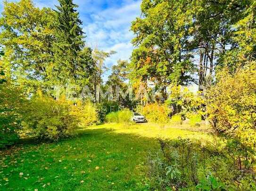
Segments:
[[[106,122],[109,123],[130,123],[132,112],[129,109],[122,109],[106,115]]]

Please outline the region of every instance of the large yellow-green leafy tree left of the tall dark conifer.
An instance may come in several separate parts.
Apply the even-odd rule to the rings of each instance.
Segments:
[[[0,43],[5,51],[2,64],[7,75],[12,71],[27,89],[48,84],[49,67],[54,62],[53,20],[50,8],[35,8],[31,0],[4,2],[0,18]]]

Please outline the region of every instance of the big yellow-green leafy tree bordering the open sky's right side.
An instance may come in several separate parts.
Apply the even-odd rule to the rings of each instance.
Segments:
[[[144,82],[149,80],[165,87],[193,81],[192,55],[185,49],[189,40],[185,29],[192,18],[185,15],[187,7],[181,8],[180,0],[142,1],[142,16],[132,22],[135,49],[130,65],[131,80],[136,81],[140,76]]]

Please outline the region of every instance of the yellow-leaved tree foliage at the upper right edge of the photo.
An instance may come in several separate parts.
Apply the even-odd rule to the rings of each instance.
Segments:
[[[219,69],[234,73],[256,60],[256,1],[248,0],[243,16],[233,25],[232,46],[218,61]]]

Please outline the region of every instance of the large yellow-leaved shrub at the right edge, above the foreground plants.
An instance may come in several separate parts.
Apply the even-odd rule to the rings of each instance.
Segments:
[[[208,120],[219,134],[256,145],[256,64],[231,75],[218,73],[217,83],[206,92]]]

